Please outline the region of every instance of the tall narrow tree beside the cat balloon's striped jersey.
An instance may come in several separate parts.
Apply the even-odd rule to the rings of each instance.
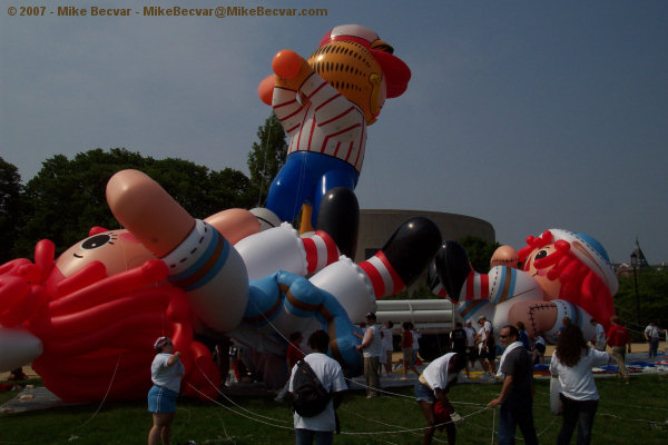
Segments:
[[[247,165],[259,207],[265,205],[269,186],[287,157],[285,130],[276,115],[272,113],[264,126],[258,127],[257,139],[248,154]]]

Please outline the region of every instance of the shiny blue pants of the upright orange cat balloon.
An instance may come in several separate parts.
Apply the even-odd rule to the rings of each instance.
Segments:
[[[276,175],[267,208],[282,221],[294,221],[302,204],[313,206],[312,225],[315,227],[320,202],[334,187],[355,189],[360,174],[346,161],[328,155],[311,151],[291,154]]]

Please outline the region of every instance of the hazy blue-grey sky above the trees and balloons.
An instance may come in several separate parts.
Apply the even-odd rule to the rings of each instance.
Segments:
[[[327,17],[10,17],[0,10],[0,156],[125,147],[247,171],[274,53],[360,23],[412,70],[370,127],[362,208],[470,215],[515,247],[547,228],[668,260],[668,2],[188,1]],[[90,9],[141,2],[71,1]],[[157,1],[155,6],[171,7]]]

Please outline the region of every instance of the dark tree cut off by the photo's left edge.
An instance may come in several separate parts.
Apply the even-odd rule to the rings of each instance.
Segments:
[[[13,240],[23,221],[19,170],[0,157],[0,264],[12,259]]]

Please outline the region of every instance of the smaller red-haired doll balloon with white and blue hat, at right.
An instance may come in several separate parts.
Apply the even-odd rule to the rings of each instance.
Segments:
[[[492,266],[488,274],[474,271],[463,247],[445,241],[432,264],[432,290],[456,303],[464,319],[477,322],[484,315],[497,332],[522,322],[531,335],[543,333],[551,342],[564,317],[591,338],[589,320],[593,317],[607,328],[615,314],[615,270],[603,247],[588,235],[546,230],[528,237],[519,254],[501,246]]]

